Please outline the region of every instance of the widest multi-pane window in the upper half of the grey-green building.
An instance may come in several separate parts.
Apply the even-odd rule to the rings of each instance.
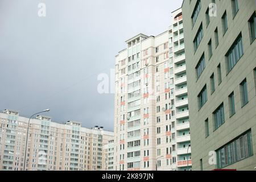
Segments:
[[[232,70],[234,65],[241,59],[243,55],[243,45],[242,45],[242,35],[240,34],[238,38],[233,43],[232,47],[226,53],[226,61],[228,65],[228,73]]]

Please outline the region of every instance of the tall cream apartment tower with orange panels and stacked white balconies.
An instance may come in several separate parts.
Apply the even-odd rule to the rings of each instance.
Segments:
[[[168,31],[126,44],[115,57],[115,170],[191,169],[181,9]]]

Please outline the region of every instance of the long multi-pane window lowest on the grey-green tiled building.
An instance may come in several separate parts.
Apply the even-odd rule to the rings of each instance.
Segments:
[[[217,167],[224,168],[253,155],[251,130],[232,140],[217,152]]]

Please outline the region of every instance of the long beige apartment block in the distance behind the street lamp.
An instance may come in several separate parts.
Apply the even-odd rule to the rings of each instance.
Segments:
[[[28,118],[4,110],[0,126],[0,170],[23,170]],[[42,115],[30,120],[28,131],[29,171],[102,170],[103,146],[113,140],[103,127],[86,129],[79,122],[57,123]]]

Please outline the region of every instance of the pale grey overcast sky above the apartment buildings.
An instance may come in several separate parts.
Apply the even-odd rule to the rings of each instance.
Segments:
[[[46,4],[46,17],[38,4]],[[114,94],[97,76],[114,68],[125,40],[158,35],[182,0],[0,0],[0,110],[113,131]]]

